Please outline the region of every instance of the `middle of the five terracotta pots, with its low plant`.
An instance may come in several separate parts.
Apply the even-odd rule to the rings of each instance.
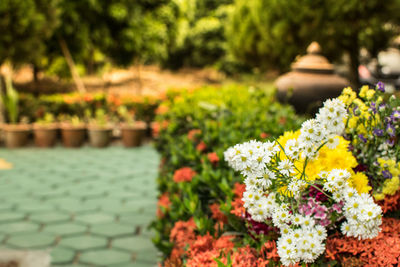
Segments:
[[[65,147],[81,147],[85,142],[86,124],[78,116],[64,117],[60,128]]]

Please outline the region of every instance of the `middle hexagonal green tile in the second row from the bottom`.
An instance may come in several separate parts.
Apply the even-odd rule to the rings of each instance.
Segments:
[[[95,236],[75,236],[61,239],[60,246],[76,250],[104,248],[107,245],[106,238]]]

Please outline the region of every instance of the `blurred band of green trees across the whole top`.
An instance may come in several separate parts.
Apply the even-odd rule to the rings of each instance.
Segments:
[[[212,66],[228,74],[289,69],[312,41],[329,59],[371,56],[396,37],[400,0],[2,0],[0,63],[69,77],[105,65]]]

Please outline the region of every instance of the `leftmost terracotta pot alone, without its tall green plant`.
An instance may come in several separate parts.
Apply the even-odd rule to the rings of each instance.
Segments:
[[[28,124],[4,124],[3,131],[7,148],[23,147],[29,141],[31,126]]]

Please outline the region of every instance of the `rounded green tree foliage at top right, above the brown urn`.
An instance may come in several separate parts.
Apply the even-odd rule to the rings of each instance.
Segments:
[[[357,59],[361,47],[376,55],[399,32],[399,8],[398,0],[236,0],[229,50],[251,66],[281,70],[312,41],[331,59]]]

